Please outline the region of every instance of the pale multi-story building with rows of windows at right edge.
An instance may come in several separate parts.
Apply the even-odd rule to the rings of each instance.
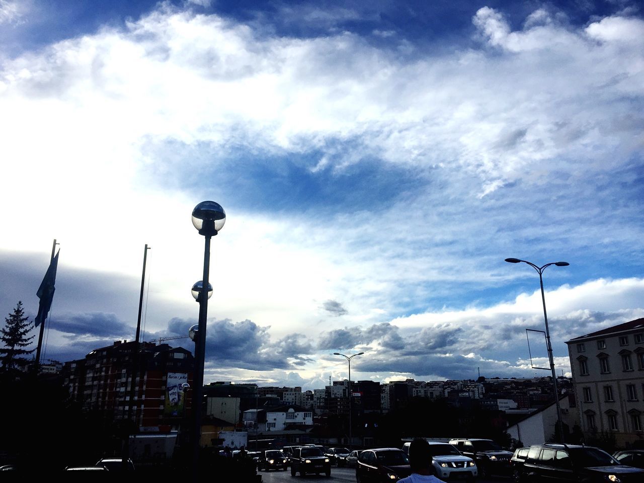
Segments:
[[[585,435],[608,432],[629,447],[644,430],[644,319],[566,342]]]

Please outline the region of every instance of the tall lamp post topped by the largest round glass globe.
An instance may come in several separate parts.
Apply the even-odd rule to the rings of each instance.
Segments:
[[[194,390],[193,390],[193,412],[194,412],[194,428],[193,428],[193,475],[194,480],[197,479],[199,474],[199,450],[201,439],[201,422],[202,422],[202,397],[204,394],[204,361],[205,361],[205,330],[206,318],[208,315],[208,289],[211,289],[208,278],[210,274],[210,239],[223,228],[226,222],[226,213],[223,211],[222,205],[213,201],[205,201],[196,205],[193,209],[193,225],[199,231],[199,234],[204,235],[204,277],[202,278],[201,293],[198,295],[197,301],[199,302],[199,325],[194,334],[193,328],[191,332],[194,340]],[[193,291],[197,282],[193,285]],[[212,294],[212,292],[211,292]]]

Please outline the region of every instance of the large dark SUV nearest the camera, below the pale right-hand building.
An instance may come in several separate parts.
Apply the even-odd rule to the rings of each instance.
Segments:
[[[537,483],[544,478],[562,483],[634,483],[644,480],[644,469],[620,464],[605,451],[592,446],[530,446],[520,480]]]

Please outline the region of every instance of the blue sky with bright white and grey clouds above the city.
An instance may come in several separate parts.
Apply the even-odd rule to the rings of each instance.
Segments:
[[[213,200],[206,383],[548,375],[509,257],[570,263],[569,375],[644,317],[643,153],[638,1],[0,0],[0,312],[55,239],[44,357],[132,340],[147,243],[143,339],[187,336]]]

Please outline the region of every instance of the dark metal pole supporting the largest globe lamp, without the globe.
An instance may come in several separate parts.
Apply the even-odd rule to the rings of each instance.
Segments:
[[[216,234],[216,232],[215,232]],[[205,361],[205,330],[208,316],[208,278],[210,272],[210,240],[211,235],[205,235],[204,247],[204,277],[202,278],[202,291],[199,294],[199,329],[197,340],[194,344],[194,391],[193,391],[193,477],[194,481],[199,476],[199,451],[202,424],[202,398],[204,395],[204,361]]]

